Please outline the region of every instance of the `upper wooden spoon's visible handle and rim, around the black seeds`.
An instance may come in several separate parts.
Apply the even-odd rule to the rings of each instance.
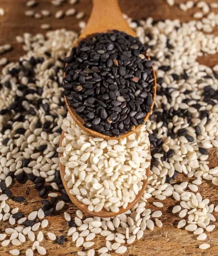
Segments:
[[[120,11],[120,7],[118,6],[118,0],[93,0],[93,8],[92,13],[89,17],[89,21],[75,42],[75,47],[78,45],[80,41],[86,41],[89,38],[92,38],[94,35],[100,33],[100,32],[112,32],[113,29],[126,32],[128,35],[132,35],[133,37],[137,37],[136,33],[129,27],[126,20],[123,18],[122,12]],[[150,60],[150,57],[148,53],[146,52],[146,57]],[[153,109],[154,102],[155,102],[155,94],[156,94],[156,79],[155,79],[155,71],[152,66],[152,74],[154,77],[154,94],[153,94],[153,104],[151,108]],[[65,73],[64,73],[65,76]],[[101,134],[97,131],[93,131],[89,128],[86,128],[83,126],[85,123],[83,118],[81,118],[73,109],[70,107],[68,100],[65,97],[66,101],[66,107],[72,116],[72,119],[74,119],[75,123],[84,131],[89,133],[90,135],[94,137],[101,137],[104,140],[112,140],[117,139],[116,136],[107,136],[104,134]],[[146,121],[149,118],[150,113],[147,113],[144,117],[144,121]],[[121,134],[119,139],[122,139],[124,137],[129,136],[130,134],[137,131],[141,125],[138,125],[134,131],[127,131],[125,134]]]

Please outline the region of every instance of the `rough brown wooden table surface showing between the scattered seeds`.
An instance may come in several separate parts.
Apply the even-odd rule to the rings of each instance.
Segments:
[[[216,2],[217,0],[208,0],[208,2]],[[52,12],[52,17],[46,17],[41,20],[34,18],[26,17],[24,11],[28,8],[25,3],[26,0],[0,0],[0,7],[5,9],[5,15],[0,16],[0,45],[10,43],[13,46],[13,51],[8,52],[2,56],[7,57],[9,61],[17,61],[19,56],[21,56],[24,51],[20,44],[17,44],[15,40],[16,35],[22,35],[24,32],[30,32],[36,34],[38,32],[45,33],[40,29],[40,24],[49,23],[52,25],[52,29],[72,29],[76,32],[79,32],[78,20],[75,17],[65,17],[63,19],[57,20],[54,18],[54,13],[60,7],[52,6],[50,0],[37,0],[39,3],[38,6],[34,7],[34,10],[40,11],[41,9],[50,9]],[[166,4],[165,0],[120,0],[121,10],[132,17],[133,19],[143,19],[146,17],[153,17],[154,20],[164,20],[166,18],[175,19],[178,18],[181,21],[187,21],[192,18],[193,11],[183,12],[179,9],[178,6],[169,7]],[[184,2],[184,0],[176,0],[176,3]],[[67,10],[70,7],[68,3],[63,4],[61,9]],[[75,5],[75,8],[79,11],[84,11],[86,17],[84,18],[87,21],[88,16],[92,9],[91,0],[80,0],[79,3]],[[215,35],[218,35],[218,29],[215,29]],[[1,57],[1,56],[0,56]],[[199,59],[202,64],[213,66],[217,64],[218,55],[204,56]],[[210,167],[218,166],[218,151],[210,151]],[[191,180],[184,175],[178,175],[176,182],[181,182],[184,180]],[[28,215],[34,209],[39,209],[41,204],[41,198],[38,197],[37,191],[34,189],[34,186],[31,182],[27,183],[30,188],[29,197],[26,196],[26,185],[20,185],[18,183],[13,184],[11,189],[14,194],[24,195],[28,198],[27,204],[22,204],[9,201],[9,204],[12,208],[20,207],[20,211],[25,215]],[[213,185],[211,182],[203,182],[199,186],[201,195],[203,198],[209,198],[210,202],[218,205],[217,186]],[[18,192],[19,191],[19,192]],[[152,205],[153,199],[149,199],[147,207],[150,209],[156,209]],[[189,233],[184,229],[179,230],[177,228],[178,221],[180,218],[177,218],[172,214],[172,207],[178,204],[175,200],[167,198],[164,201],[164,207],[162,209],[163,215],[160,220],[163,222],[163,227],[155,227],[153,231],[146,230],[144,236],[141,240],[136,240],[133,244],[128,246],[125,256],[145,256],[145,255],[158,255],[158,256],[218,256],[218,224],[213,232],[208,233],[208,238],[205,242],[208,242],[211,247],[208,250],[198,249],[199,244],[202,242],[196,240],[196,235]],[[46,238],[47,232],[53,232],[56,236],[64,235],[66,237],[67,222],[63,217],[63,212],[66,210],[72,215],[75,216],[75,209],[72,204],[65,204],[64,208],[55,213],[53,216],[48,216],[49,226],[43,230]],[[215,213],[215,217],[218,218],[218,213]],[[8,222],[0,222],[0,233],[3,233],[6,227],[9,227]],[[41,229],[40,229],[41,230]],[[77,255],[78,248],[75,247],[75,243],[72,243],[72,239],[66,239],[63,245],[58,245],[56,242],[44,239],[42,241],[42,246],[45,246],[47,250],[47,255],[49,256],[69,256]],[[95,239],[94,249],[98,250],[100,247],[105,246],[105,239],[97,236]],[[26,248],[32,247],[32,242],[26,242],[25,246],[19,247],[21,250],[21,255],[25,255]],[[9,247],[0,247],[0,256],[9,255]],[[34,254],[35,255],[35,254]],[[98,253],[97,253],[98,255]],[[116,255],[112,253],[112,255]]]

